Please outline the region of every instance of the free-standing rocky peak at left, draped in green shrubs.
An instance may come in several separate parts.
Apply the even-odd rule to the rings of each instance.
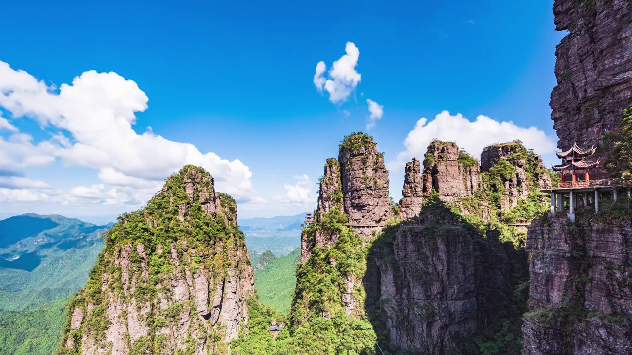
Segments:
[[[185,166],[107,232],[69,303],[59,354],[227,354],[248,326],[253,273],[236,204]]]

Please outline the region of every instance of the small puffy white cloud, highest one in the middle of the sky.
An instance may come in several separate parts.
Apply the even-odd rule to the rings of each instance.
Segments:
[[[360,50],[353,42],[347,42],[344,51],[346,54],[334,61],[329,69],[327,73],[329,78],[325,78],[327,66],[324,61],[316,64],[316,73],[313,78],[319,92],[326,90],[329,93],[329,100],[334,104],[345,102],[362,79],[362,75],[355,69],[360,58]]]

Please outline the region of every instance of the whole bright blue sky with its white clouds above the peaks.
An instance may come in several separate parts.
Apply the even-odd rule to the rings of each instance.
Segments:
[[[430,138],[456,140],[475,157],[485,144],[514,138],[552,152],[548,102],[564,35],[554,30],[552,0],[473,3],[4,4],[0,217],[109,220],[142,206],[158,176],[187,162],[222,180],[218,190],[238,198],[240,218],[312,209],[325,159],[337,155],[346,133],[367,131],[367,99],[383,108],[368,132],[386,153],[394,198],[403,164]],[[359,56],[341,72],[359,75],[357,83],[329,72],[348,42]],[[315,85],[319,61],[324,79],[349,88],[343,100],[332,102]],[[83,85],[59,95],[62,84],[90,70],[116,78],[82,76]],[[31,77],[47,87],[35,90]],[[59,102],[47,105],[50,97]],[[117,121],[123,116],[145,136],[130,135]],[[490,119],[467,122],[478,116]],[[119,127],[114,122],[120,131],[102,127]],[[539,130],[526,129],[532,126]],[[138,156],[125,161],[128,155]]]

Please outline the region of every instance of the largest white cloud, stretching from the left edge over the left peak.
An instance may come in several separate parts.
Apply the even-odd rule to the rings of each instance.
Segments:
[[[56,133],[39,145],[18,133],[13,140],[0,138],[0,167],[43,165],[59,157],[66,164],[97,169],[104,183],[149,188],[182,165],[195,164],[214,176],[218,190],[236,198],[251,195],[252,172],[240,160],[202,153],[150,130],[136,133],[136,112],[145,111],[147,101],[134,81],[116,73],[87,71],[55,88],[0,61],[0,106],[13,117],[32,117],[70,134]]]

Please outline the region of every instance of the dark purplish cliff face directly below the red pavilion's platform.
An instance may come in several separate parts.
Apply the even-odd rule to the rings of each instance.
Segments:
[[[632,220],[609,215],[533,222],[525,354],[632,353]]]

